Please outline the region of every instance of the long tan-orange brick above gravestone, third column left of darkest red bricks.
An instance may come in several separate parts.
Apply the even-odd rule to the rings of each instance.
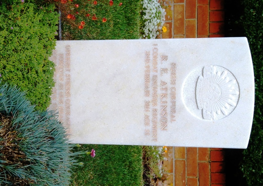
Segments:
[[[174,5],[174,35],[184,35],[184,4]]]

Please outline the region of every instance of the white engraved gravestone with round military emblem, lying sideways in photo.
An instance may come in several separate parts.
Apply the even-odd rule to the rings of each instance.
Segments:
[[[246,148],[246,38],[57,41],[52,104],[72,143]]]

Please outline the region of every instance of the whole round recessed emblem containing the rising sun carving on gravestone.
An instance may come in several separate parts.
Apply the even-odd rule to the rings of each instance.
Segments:
[[[189,94],[187,89],[189,91],[190,88],[193,88],[194,92]],[[217,65],[207,65],[190,73],[186,78],[183,98],[186,107],[195,116],[206,120],[219,120],[236,108],[239,86],[229,70]]]

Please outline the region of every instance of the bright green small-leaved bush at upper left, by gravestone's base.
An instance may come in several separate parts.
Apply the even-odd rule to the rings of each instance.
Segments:
[[[2,81],[21,87],[36,109],[49,106],[54,86],[54,64],[58,13],[55,6],[39,7],[14,0],[0,5],[0,73]]]

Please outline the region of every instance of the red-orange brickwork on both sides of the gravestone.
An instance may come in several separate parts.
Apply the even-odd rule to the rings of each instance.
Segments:
[[[224,0],[163,0],[166,33],[161,38],[224,37]],[[224,151],[167,147],[164,185],[225,186]]]

